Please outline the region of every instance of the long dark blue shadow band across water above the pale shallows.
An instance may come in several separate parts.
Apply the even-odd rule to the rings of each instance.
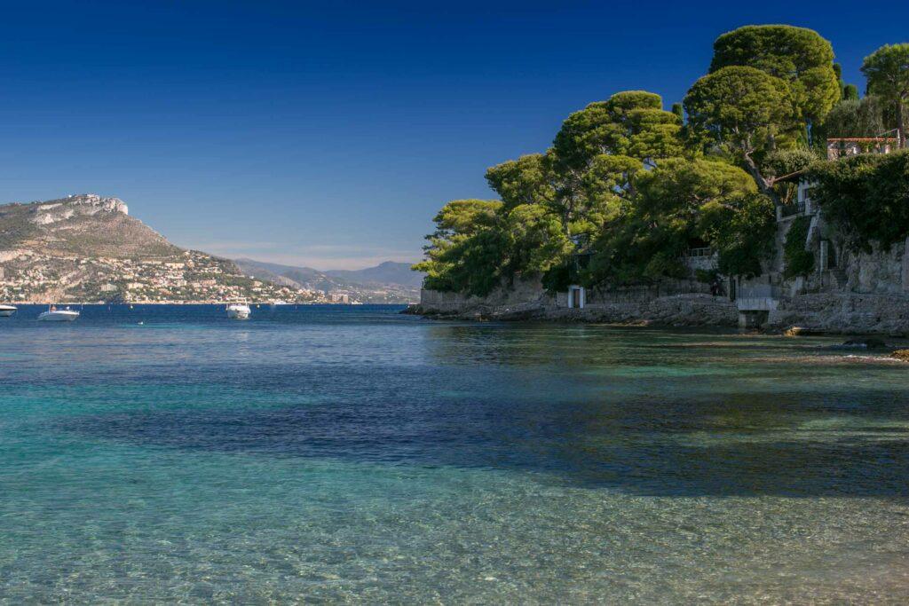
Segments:
[[[328,403],[113,412],[58,428],[193,451],[538,472],[641,495],[909,496],[901,393],[415,399],[402,374],[385,384],[348,377]],[[442,373],[418,391],[442,394],[452,382]]]

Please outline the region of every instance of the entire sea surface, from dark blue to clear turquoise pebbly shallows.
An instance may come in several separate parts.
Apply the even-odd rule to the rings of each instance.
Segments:
[[[0,601],[909,599],[909,366],[398,309],[0,319]]]

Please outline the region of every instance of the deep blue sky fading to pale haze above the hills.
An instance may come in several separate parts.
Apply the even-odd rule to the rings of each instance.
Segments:
[[[909,40],[906,2],[2,5],[0,200],[116,195],[175,243],[320,269],[416,260],[487,166],[614,92],[681,100],[739,25],[816,29],[860,88]]]

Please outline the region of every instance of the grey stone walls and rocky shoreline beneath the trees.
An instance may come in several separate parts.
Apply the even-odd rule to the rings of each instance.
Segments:
[[[784,229],[780,232],[783,240]],[[765,328],[909,335],[909,239],[890,251],[839,253],[834,269],[807,278],[782,281],[779,271],[771,269],[763,285],[774,300],[774,305],[762,307]],[[423,291],[422,302],[412,312],[490,320],[736,325],[736,303],[711,296],[709,290],[709,285],[694,281],[588,290],[584,309],[568,309],[567,293],[551,296],[538,281],[526,281],[483,298]],[[750,292],[744,284],[740,291],[740,296]]]

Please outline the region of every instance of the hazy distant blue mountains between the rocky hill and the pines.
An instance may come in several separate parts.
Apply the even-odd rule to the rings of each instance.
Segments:
[[[300,288],[347,294],[362,303],[409,303],[419,301],[422,274],[411,272],[407,263],[385,262],[362,270],[329,270],[235,259],[240,270],[257,280],[288,283]]]

